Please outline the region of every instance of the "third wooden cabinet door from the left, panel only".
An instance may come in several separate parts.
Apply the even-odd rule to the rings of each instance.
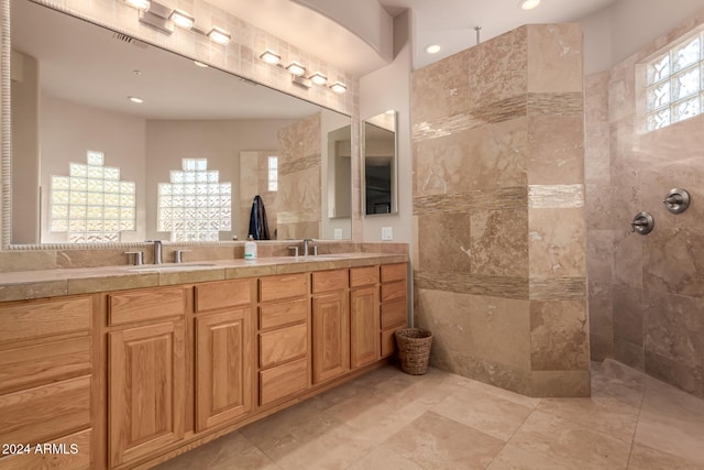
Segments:
[[[350,370],[349,305],[345,291],[312,298],[312,381]]]

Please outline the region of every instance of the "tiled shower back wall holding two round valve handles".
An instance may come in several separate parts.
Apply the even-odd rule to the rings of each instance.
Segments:
[[[704,397],[704,116],[641,133],[638,64],[704,24],[704,10],[609,72],[587,77],[587,222],[593,357],[615,357]],[[662,204],[692,195],[681,215]],[[654,217],[648,236],[634,216]]]

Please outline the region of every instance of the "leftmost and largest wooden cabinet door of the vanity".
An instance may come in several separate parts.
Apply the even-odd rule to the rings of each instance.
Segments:
[[[110,466],[146,456],[184,436],[184,323],[109,334]]]

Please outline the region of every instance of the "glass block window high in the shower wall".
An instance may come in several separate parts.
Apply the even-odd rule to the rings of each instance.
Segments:
[[[702,113],[704,32],[650,61],[646,70],[648,131]]]

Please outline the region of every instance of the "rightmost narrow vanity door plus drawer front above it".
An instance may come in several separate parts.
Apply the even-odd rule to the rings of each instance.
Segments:
[[[350,363],[352,369],[376,361],[378,335],[378,266],[350,270]]]

